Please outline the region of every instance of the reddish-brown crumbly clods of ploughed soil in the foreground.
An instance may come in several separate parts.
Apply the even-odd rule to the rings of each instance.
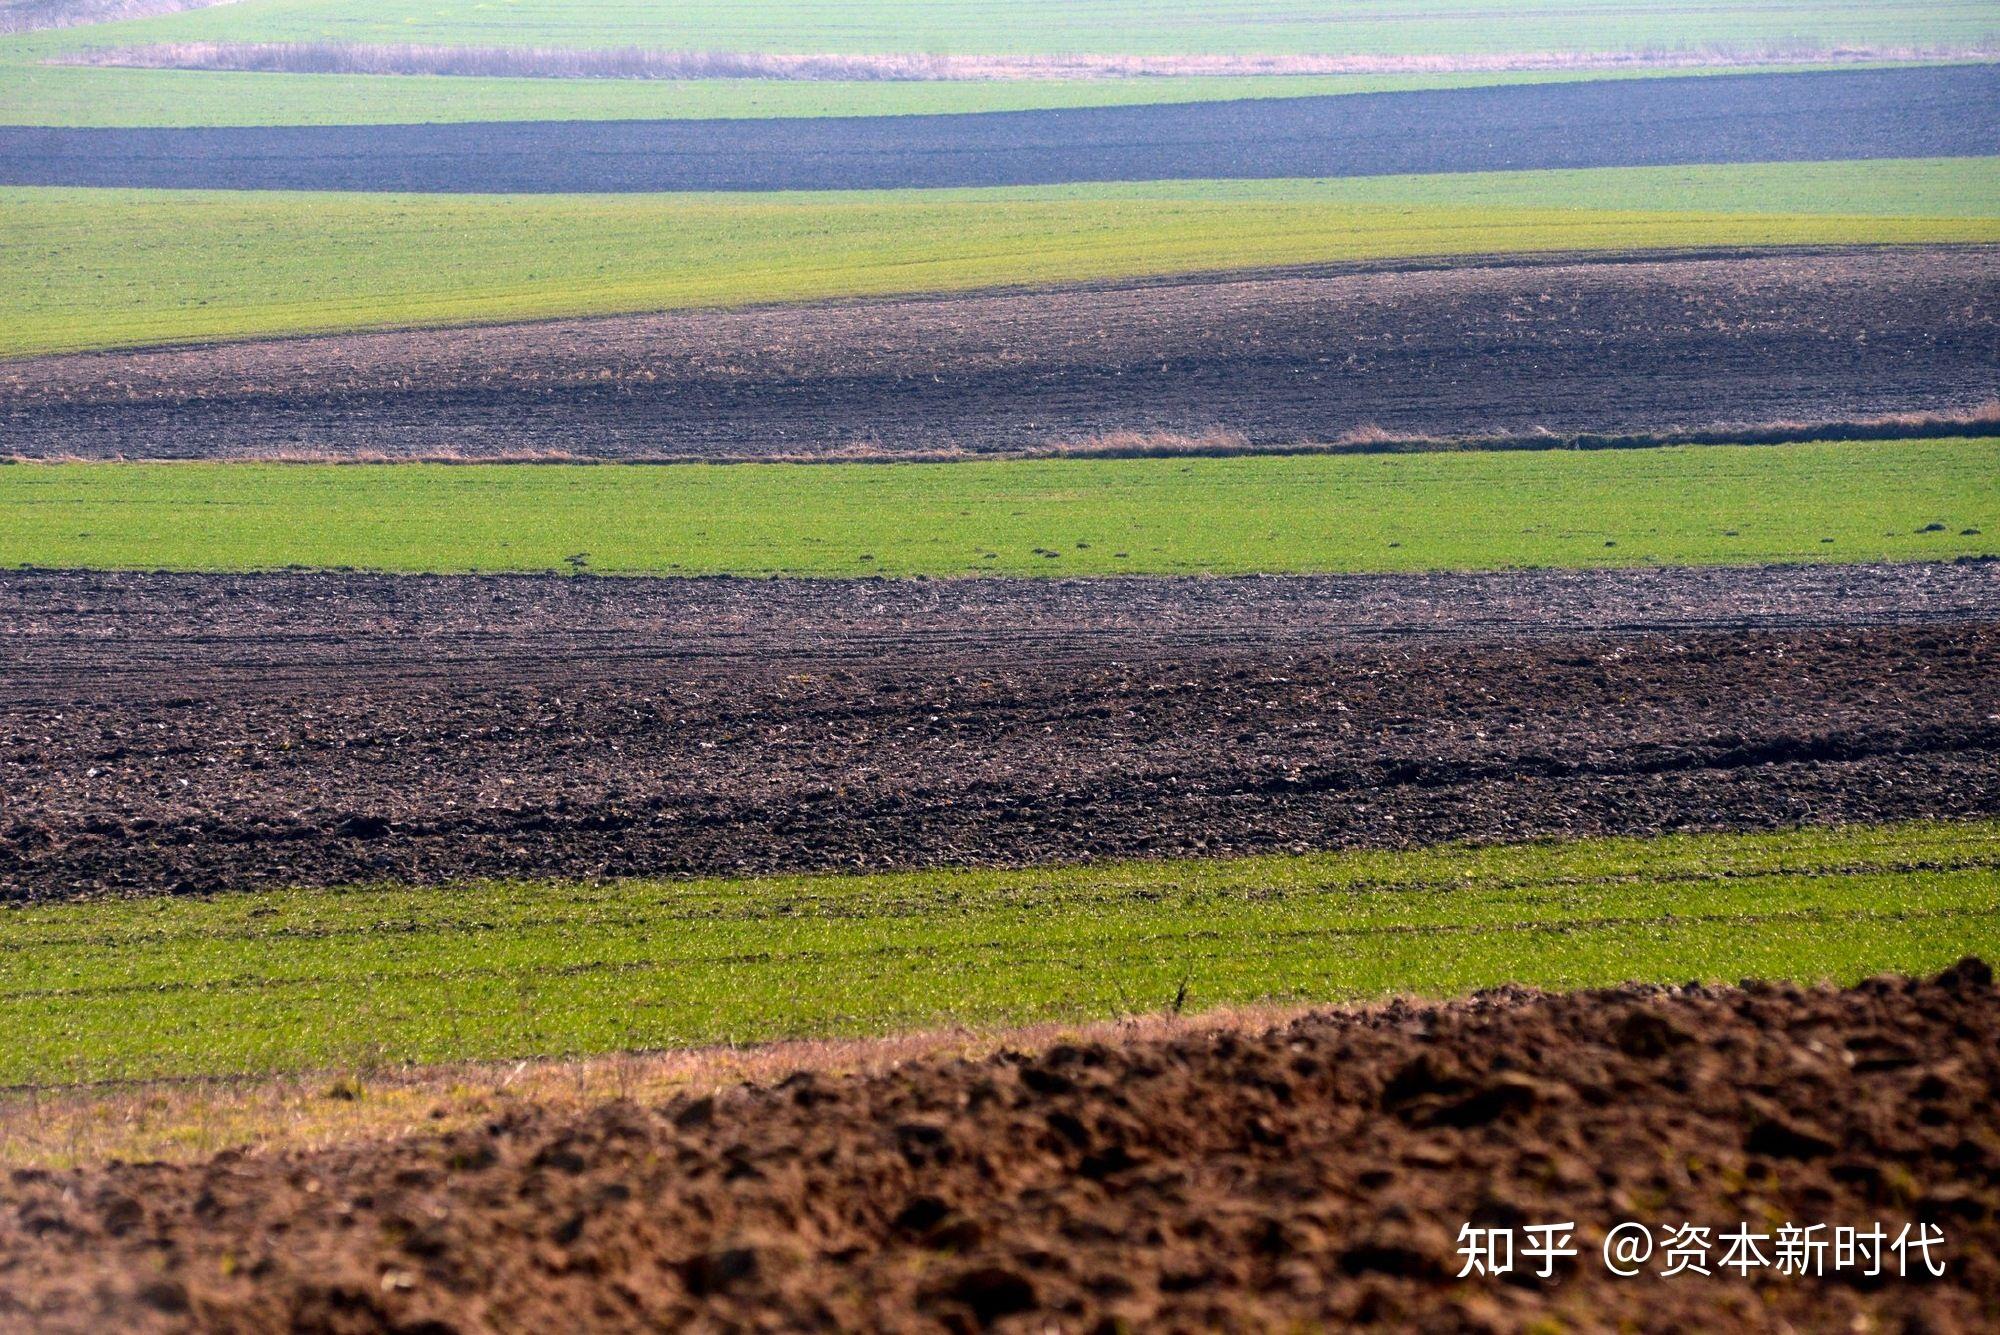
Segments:
[[[796,1075],[192,1167],[16,1171],[44,1329],[1890,1329],[2000,1319],[2000,993],[1520,991]],[[1612,1225],[1932,1223],[1946,1275],[1616,1279]],[[1456,1281],[1466,1221],[1576,1223]],[[1774,1245],[1762,1247],[1766,1257]],[[1528,1267],[1536,1269],[1534,1265]],[[1122,1327],[1120,1327],[1122,1323]]]

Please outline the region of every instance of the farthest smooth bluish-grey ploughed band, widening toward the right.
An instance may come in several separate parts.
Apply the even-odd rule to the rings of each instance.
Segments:
[[[1104,180],[1954,158],[2000,144],[2000,66],[1328,98],[432,126],[0,126],[0,184],[208,190],[892,190]]]

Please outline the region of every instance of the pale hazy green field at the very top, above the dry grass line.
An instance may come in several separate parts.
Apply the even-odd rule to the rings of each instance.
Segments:
[[[750,52],[1442,54],[1702,46],[1962,46],[2000,22],[1982,0],[240,0],[16,38],[130,42],[458,42]]]

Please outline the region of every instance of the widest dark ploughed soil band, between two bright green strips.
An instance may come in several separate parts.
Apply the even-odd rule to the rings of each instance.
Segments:
[[[0,576],[0,897],[2000,811],[2000,564]]]

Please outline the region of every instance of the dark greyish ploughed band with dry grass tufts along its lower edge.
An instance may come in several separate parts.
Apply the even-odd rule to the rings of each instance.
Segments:
[[[1460,262],[0,364],[32,458],[1674,434],[2000,398],[2000,250]]]

